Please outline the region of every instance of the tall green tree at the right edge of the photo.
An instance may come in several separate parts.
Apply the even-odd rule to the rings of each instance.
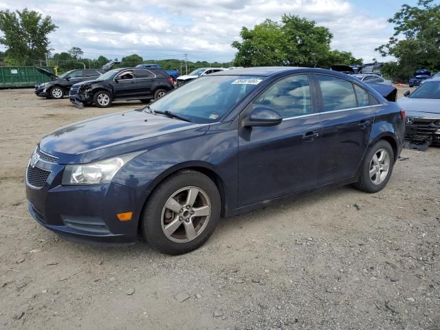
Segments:
[[[376,50],[394,56],[397,63],[385,65],[385,74],[404,81],[415,69],[440,69],[440,4],[434,0],[404,4],[388,22],[395,24],[394,34]]]

